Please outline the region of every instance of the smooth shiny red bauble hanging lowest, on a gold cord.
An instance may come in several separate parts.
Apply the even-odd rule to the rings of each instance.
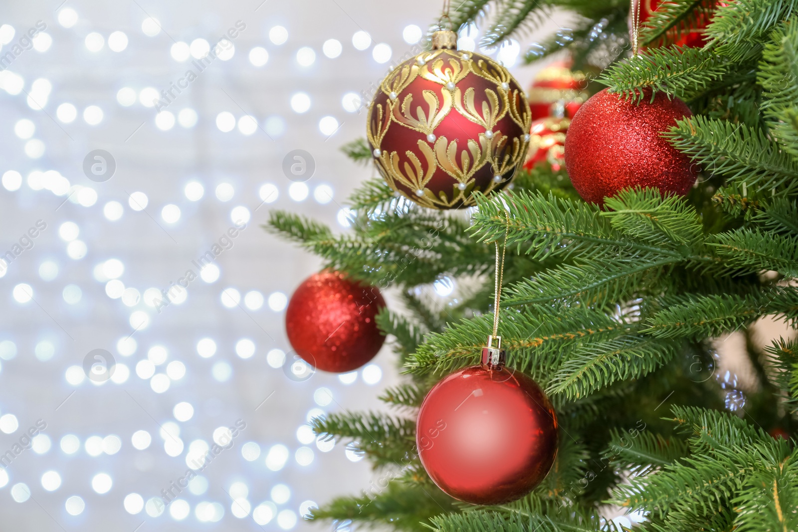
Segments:
[[[503,504],[527,495],[557,455],[557,416],[521,372],[476,365],[436,384],[418,412],[418,454],[455,499]]]

